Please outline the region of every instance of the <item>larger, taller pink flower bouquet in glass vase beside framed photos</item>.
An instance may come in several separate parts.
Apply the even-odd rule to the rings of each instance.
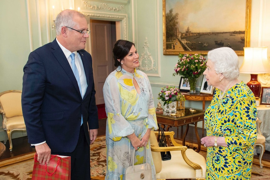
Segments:
[[[198,77],[205,71],[206,62],[201,54],[179,54],[179,60],[174,67],[175,75],[188,78],[190,82],[190,93],[195,94],[195,85]]]

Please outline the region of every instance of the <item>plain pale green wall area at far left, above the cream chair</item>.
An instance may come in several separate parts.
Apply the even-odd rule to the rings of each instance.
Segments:
[[[1,1],[0,9],[0,92],[22,90],[23,66],[30,53],[26,0]]]

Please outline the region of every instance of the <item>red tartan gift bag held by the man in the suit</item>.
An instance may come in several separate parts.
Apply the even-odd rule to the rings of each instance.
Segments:
[[[32,180],[70,180],[71,158],[70,156],[51,155],[49,164],[40,164],[37,161],[37,153],[34,155],[34,168]]]

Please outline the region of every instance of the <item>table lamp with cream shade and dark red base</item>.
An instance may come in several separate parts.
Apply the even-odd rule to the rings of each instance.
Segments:
[[[247,86],[255,97],[259,98],[261,83],[257,80],[258,74],[270,73],[270,64],[267,60],[267,47],[244,47],[244,61],[240,73],[250,74],[251,80]]]

